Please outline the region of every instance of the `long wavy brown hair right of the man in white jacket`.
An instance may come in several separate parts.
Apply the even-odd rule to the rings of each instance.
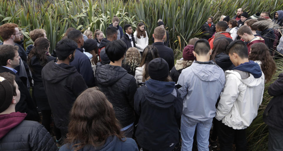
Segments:
[[[264,73],[264,79],[266,82],[269,82],[276,71],[276,64],[269,53],[268,47],[264,43],[255,43],[251,45],[249,60],[258,60],[261,62],[260,67]]]

